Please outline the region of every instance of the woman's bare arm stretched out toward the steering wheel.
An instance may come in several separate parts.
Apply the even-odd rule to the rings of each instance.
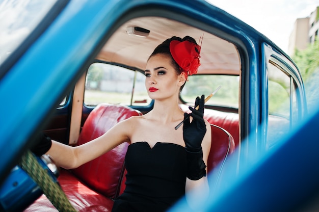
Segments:
[[[134,118],[130,117],[119,122],[102,136],[83,145],[71,147],[56,141],[52,141],[49,154],[57,166],[65,169],[74,169],[96,157],[108,152],[121,143],[129,142]]]

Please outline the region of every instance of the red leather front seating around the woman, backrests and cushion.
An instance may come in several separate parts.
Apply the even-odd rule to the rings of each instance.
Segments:
[[[142,115],[140,112],[122,105],[99,104],[88,116],[78,145],[91,141],[121,120]],[[227,156],[234,150],[234,139],[223,128],[211,125],[212,143],[208,157],[208,171],[222,166]],[[78,211],[111,211],[114,199],[125,189],[124,158],[127,143],[101,155],[95,160],[74,170],[61,170],[58,178],[63,191]],[[214,170],[215,171],[215,170]],[[209,174],[209,173],[208,173]],[[42,195],[25,211],[57,211]]]

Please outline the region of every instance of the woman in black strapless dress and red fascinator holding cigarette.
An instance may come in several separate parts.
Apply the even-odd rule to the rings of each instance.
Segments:
[[[188,75],[195,74],[200,65],[199,53],[200,46],[189,36],[167,39],[154,49],[146,64],[145,86],[154,99],[150,112],[119,122],[81,146],[52,141],[47,154],[58,166],[73,169],[128,142],[126,189],[115,200],[113,211],[165,211],[185,191],[207,181],[211,134],[203,119],[204,96],[196,98],[194,108],[199,108],[190,107],[191,114],[178,106]],[[175,130],[183,119],[183,127]]]

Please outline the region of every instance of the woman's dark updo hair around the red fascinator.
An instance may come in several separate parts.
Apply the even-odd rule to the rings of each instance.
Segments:
[[[188,40],[190,42],[193,42],[197,45],[197,42],[194,38],[190,37],[190,36],[185,36],[184,38],[180,38],[180,37],[176,37],[173,36],[167,40],[165,40],[163,43],[159,44],[153,51],[153,53],[149,56],[148,60],[157,55],[157,54],[163,54],[163,55],[167,55],[171,58],[171,65],[174,67],[176,73],[179,75],[183,72],[183,69],[176,63],[176,61],[173,59],[171,51],[170,51],[170,43],[173,40],[178,40],[180,42]],[[186,82],[185,82],[186,83]],[[183,89],[185,83],[180,87],[180,91]]]

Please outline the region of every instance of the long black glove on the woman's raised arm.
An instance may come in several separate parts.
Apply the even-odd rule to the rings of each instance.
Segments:
[[[206,176],[206,165],[203,161],[203,150],[201,143],[206,134],[206,124],[204,121],[205,98],[202,95],[195,100],[195,107],[189,107],[191,114],[184,113],[183,139],[185,150],[187,152],[187,177],[192,180],[198,180]],[[195,108],[199,105],[198,110]],[[190,122],[189,116],[193,117]]]

